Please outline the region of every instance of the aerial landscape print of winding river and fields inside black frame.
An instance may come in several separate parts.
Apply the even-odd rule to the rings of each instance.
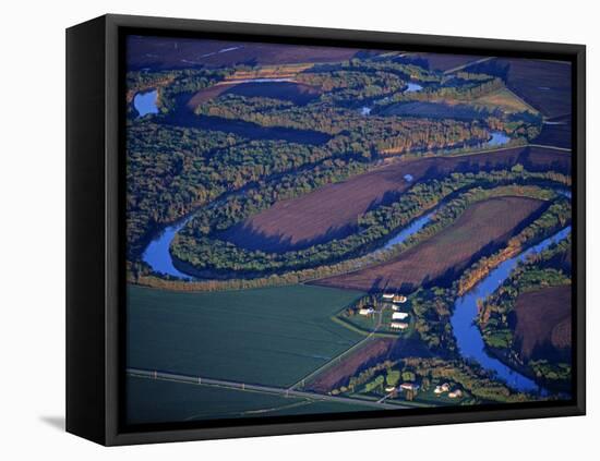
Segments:
[[[571,399],[568,62],[129,36],[125,85],[128,423]]]

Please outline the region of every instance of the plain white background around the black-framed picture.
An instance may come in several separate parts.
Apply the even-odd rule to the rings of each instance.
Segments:
[[[0,34],[0,458],[590,459],[598,447],[600,33],[591,1],[104,0],[3,3]],[[588,416],[105,449],[63,433],[64,28],[112,13],[588,46]],[[589,453],[586,456],[586,453]]]

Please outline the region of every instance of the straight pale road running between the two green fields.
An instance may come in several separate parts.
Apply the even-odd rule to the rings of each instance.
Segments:
[[[219,387],[226,387],[226,388],[238,389],[238,390],[253,390],[257,392],[284,395],[286,397],[300,397],[303,399],[311,399],[311,400],[319,400],[319,401],[326,401],[326,402],[339,402],[339,403],[350,403],[355,405],[365,405],[365,407],[371,407],[373,409],[380,409],[380,410],[397,410],[397,409],[408,408],[408,407],[404,407],[395,403],[385,403],[385,402],[380,403],[373,400],[350,399],[348,397],[335,397],[335,396],[328,396],[323,393],[304,392],[301,390],[286,389],[281,387],[251,385],[245,383],[229,381],[225,379],[203,378],[201,376],[180,375],[176,373],[158,372],[153,369],[127,368],[127,373],[130,376],[136,376],[136,377],[148,378],[148,379],[164,379],[164,380],[171,380],[177,383],[185,383],[185,384],[194,384],[194,385],[219,386]]]

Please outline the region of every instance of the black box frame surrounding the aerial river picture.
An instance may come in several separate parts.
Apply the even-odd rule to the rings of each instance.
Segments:
[[[177,37],[403,49],[568,60],[573,63],[574,398],[377,411],[351,415],[128,427],[124,342],[123,36]],[[585,151],[586,49],[581,45],[104,15],[67,31],[67,430],[98,444],[130,445],[532,417],[586,412]]]

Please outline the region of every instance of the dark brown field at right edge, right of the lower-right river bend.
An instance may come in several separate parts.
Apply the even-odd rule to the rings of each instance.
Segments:
[[[515,305],[515,339],[521,356],[548,359],[571,348],[571,286],[523,293]]]

